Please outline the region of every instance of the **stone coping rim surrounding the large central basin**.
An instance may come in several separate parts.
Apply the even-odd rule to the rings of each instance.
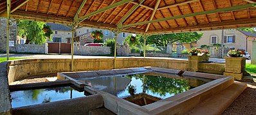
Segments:
[[[123,72],[121,72],[123,70]],[[161,72],[161,74],[168,75],[177,75],[180,74],[180,70],[172,70],[165,68],[154,68],[154,67],[145,67],[145,68],[125,68],[118,70],[106,70],[106,71],[95,71],[96,75],[103,77],[104,75],[116,75],[119,73],[129,73],[134,72],[134,70],[138,70],[137,72],[148,72],[151,70],[154,72]],[[142,71],[140,71],[142,70]],[[103,72],[99,74],[98,72]],[[118,72],[118,73],[117,73]],[[69,74],[68,73],[58,73],[61,74]],[[78,74],[79,72],[73,72]],[[83,76],[84,78],[92,78],[91,75],[95,75],[92,72],[80,72],[80,73],[88,73],[88,75]],[[182,72],[183,73],[183,72]],[[197,77],[200,79],[212,79],[213,81],[198,86],[197,88],[190,89],[189,91],[185,91],[183,93],[179,93],[178,95],[171,96],[164,100],[160,100],[158,102],[154,102],[149,105],[139,106],[123,100],[122,98],[118,98],[109,93],[105,93],[104,91],[99,91],[97,89],[91,88],[89,86],[84,87],[85,91],[92,94],[100,94],[104,98],[104,107],[114,112],[115,114],[185,114],[190,111],[197,104],[203,102],[210,96],[214,95],[219,91],[223,91],[233,84],[233,77],[226,77],[224,75],[214,75],[209,73],[199,73],[199,72],[184,72],[182,74],[185,77]],[[71,75],[72,76],[72,75]],[[63,76],[63,77],[66,77]],[[174,76],[175,77],[175,76]],[[78,81],[78,78],[70,79]]]

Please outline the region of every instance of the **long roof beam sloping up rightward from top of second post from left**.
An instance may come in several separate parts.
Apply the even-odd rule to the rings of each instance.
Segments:
[[[111,5],[106,6],[106,7],[102,8],[102,9],[100,9],[100,10],[97,10],[97,11],[94,11],[94,12],[89,13],[87,15],[84,15],[83,17],[78,18],[78,20],[80,20],[80,21],[85,20],[87,17],[91,17],[93,15],[96,15],[96,14],[101,13],[103,11],[115,8],[117,6],[121,6],[122,4],[126,4],[126,3],[129,3],[131,1],[134,1],[134,0],[122,0],[122,1],[120,1],[118,3],[111,4]]]

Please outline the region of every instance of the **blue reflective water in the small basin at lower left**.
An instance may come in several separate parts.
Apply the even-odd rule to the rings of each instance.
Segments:
[[[11,92],[12,107],[23,107],[85,96],[70,86]]]

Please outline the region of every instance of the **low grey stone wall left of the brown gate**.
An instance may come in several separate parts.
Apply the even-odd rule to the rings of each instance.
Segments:
[[[35,45],[35,44],[17,44],[17,52],[32,52],[38,54],[47,54],[48,45]]]

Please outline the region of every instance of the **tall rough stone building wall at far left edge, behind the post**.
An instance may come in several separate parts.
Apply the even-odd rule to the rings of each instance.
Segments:
[[[0,18],[0,52],[6,52],[6,26],[7,19]],[[16,36],[16,22],[10,23],[10,42],[14,42],[14,46],[9,47],[10,52],[16,52],[17,36]]]

